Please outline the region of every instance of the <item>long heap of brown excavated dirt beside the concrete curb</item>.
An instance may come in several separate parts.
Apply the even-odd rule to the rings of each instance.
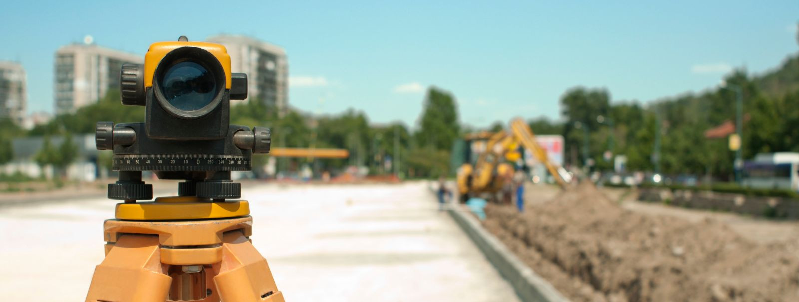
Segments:
[[[486,227],[572,300],[799,300],[796,246],[755,244],[717,221],[633,213],[591,184],[526,213],[486,212]]]

